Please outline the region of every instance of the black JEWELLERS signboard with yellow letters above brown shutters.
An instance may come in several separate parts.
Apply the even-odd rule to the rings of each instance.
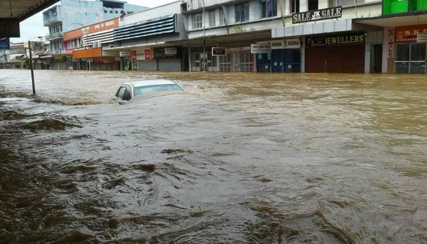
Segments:
[[[325,47],[365,43],[365,33],[347,33],[342,35],[319,36],[306,38],[307,47]]]

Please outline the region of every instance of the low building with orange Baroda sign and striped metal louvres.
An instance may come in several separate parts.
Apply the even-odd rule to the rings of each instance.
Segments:
[[[188,49],[169,44],[187,39],[181,1],[104,22],[82,28],[85,33],[80,29],[64,33],[73,61],[87,63],[82,63],[83,69],[188,71]]]

